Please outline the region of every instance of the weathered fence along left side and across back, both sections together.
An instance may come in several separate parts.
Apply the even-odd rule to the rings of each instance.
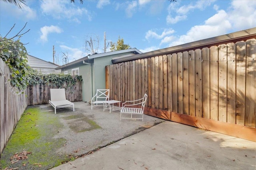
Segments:
[[[48,104],[50,100],[50,88],[36,84],[28,86],[26,93],[17,95],[10,86],[10,68],[0,59],[0,153],[4,149],[8,139],[12,135],[22,113],[28,105]],[[82,82],[74,86],[63,84],[66,88],[66,99],[71,102],[82,101]]]

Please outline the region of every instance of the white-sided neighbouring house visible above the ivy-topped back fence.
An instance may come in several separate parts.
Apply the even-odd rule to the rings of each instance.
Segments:
[[[59,65],[54,64],[52,62],[47,62],[42,59],[38,59],[32,55],[27,55],[28,57],[28,65],[33,68],[34,70],[37,70],[38,72],[42,74],[50,74],[55,73],[59,74],[61,73],[61,69],[56,70]]]

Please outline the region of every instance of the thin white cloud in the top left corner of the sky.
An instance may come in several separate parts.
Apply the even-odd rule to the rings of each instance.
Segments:
[[[25,5],[22,6],[22,9],[19,9],[14,4],[1,3],[0,10],[4,11],[8,15],[12,15],[26,21],[37,18],[36,10]]]

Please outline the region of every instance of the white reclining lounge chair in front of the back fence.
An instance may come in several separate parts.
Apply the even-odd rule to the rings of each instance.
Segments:
[[[75,111],[74,104],[68,100],[66,100],[66,94],[64,88],[56,88],[50,89],[51,100],[49,100],[52,107],[54,107],[54,112],[56,114],[56,109],[64,108],[64,107],[73,107],[73,111]]]

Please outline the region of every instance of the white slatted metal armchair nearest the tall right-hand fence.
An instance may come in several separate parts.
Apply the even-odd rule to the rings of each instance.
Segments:
[[[144,107],[146,104],[146,100],[148,98],[147,94],[144,94],[144,97],[138,100],[126,101],[122,104],[120,111],[120,121],[121,119],[142,119],[144,114]],[[135,104],[132,104],[134,103]],[[131,104],[128,104],[131,103]],[[131,114],[130,117],[122,117],[123,115]],[[132,115],[142,115],[142,117],[132,117]]]

